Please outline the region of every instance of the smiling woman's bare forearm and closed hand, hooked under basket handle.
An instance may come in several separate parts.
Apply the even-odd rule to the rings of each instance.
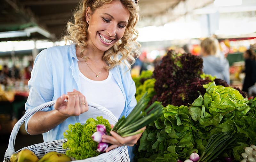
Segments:
[[[65,99],[68,101],[66,102]],[[85,96],[76,91],[61,95],[54,104],[52,111],[36,112],[28,121],[27,131],[30,135],[38,135],[48,132],[70,116],[78,116],[88,111]]]

